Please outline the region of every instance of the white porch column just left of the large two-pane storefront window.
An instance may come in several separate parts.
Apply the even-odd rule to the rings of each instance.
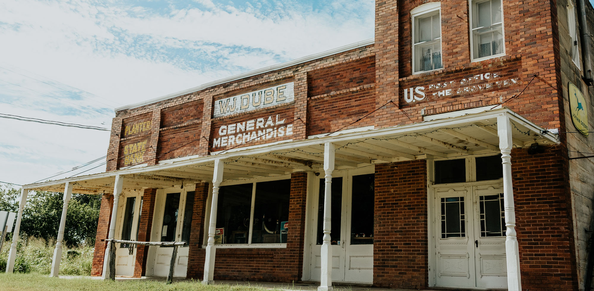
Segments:
[[[217,224],[217,201],[219,200],[219,186],[223,181],[223,161],[218,159],[214,161],[213,173],[213,199],[210,203],[210,220],[208,220],[208,245],[206,246],[206,258],[204,260],[204,280],[203,284],[208,284],[214,279],[214,256],[216,254],[216,245],[214,245],[214,231]]]

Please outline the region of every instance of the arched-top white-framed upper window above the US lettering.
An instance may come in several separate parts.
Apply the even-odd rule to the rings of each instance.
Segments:
[[[410,11],[412,17],[413,73],[443,68],[441,62],[440,2],[430,2]]]

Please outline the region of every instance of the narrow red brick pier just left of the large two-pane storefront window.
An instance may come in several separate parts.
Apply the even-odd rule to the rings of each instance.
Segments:
[[[206,200],[208,198],[208,183],[196,184],[194,194],[194,210],[192,211],[192,230],[189,234],[188,249],[188,279],[203,279],[204,274],[204,222],[206,217]],[[207,226],[208,227],[208,226]]]

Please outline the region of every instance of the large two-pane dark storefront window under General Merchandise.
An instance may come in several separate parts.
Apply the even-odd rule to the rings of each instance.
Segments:
[[[223,244],[286,243],[290,180],[221,186],[216,227]],[[218,243],[218,242],[217,242]]]

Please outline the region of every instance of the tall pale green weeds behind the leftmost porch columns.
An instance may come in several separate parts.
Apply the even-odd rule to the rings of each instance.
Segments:
[[[0,272],[6,270],[10,241],[4,242],[0,253]],[[49,274],[52,267],[53,250],[55,241],[46,245],[43,239],[20,239],[17,244],[17,257],[15,258],[14,271],[17,273]],[[78,248],[68,249],[62,246],[62,261],[60,264],[61,275],[90,276],[91,262],[93,261],[93,248],[82,245]]]

